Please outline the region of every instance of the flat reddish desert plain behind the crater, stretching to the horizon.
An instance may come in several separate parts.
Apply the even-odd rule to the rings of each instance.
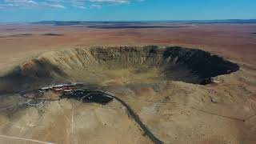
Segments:
[[[256,24],[182,26],[186,27],[93,29],[86,26],[0,25],[0,70],[22,58],[70,45],[178,45],[202,48],[235,61],[256,63]]]

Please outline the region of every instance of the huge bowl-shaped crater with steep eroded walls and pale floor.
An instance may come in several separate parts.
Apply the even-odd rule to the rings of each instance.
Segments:
[[[150,79],[207,84],[212,77],[237,70],[237,64],[217,55],[178,46],[81,47],[42,54],[18,66],[0,78],[0,93],[54,81],[101,85],[113,79]]]

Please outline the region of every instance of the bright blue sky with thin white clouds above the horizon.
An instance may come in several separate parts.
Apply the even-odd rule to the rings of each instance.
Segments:
[[[256,0],[0,0],[0,22],[256,18]]]

